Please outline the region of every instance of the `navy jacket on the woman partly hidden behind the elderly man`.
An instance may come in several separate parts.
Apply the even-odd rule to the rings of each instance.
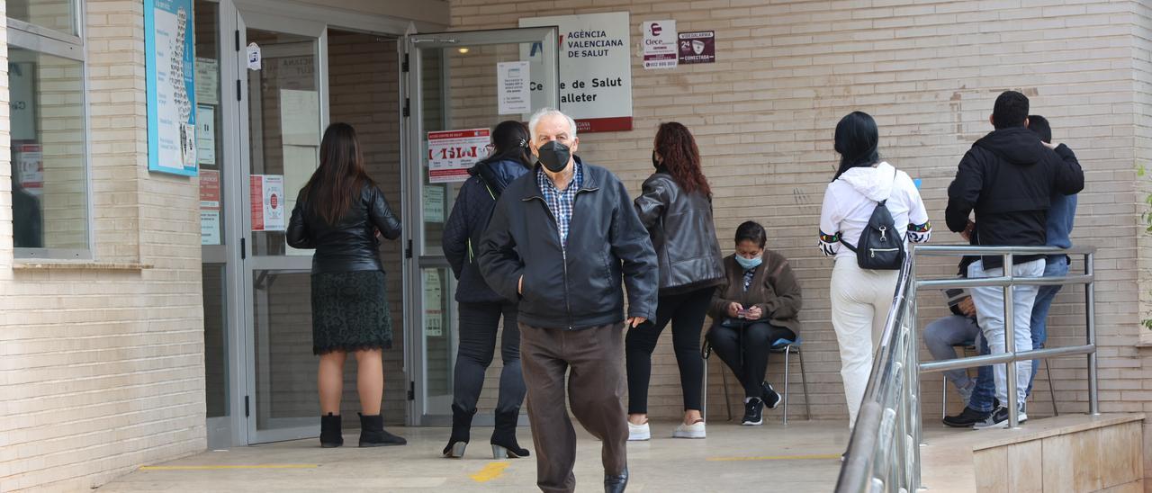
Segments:
[[[476,264],[476,249],[484,229],[492,218],[497,199],[509,183],[526,174],[530,168],[514,160],[480,161],[468,170],[471,175],[460,188],[452,215],[444,225],[444,256],[460,281],[456,301],[460,303],[500,303],[503,296],[493,291],[480,275]]]

